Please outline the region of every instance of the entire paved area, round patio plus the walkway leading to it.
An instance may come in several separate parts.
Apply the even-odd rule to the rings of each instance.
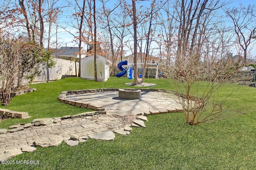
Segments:
[[[35,146],[58,146],[62,141],[75,146],[79,142],[86,142],[88,138],[114,140],[114,132],[130,134],[131,127],[146,127],[144,121],[147,121],[148,115],[183,111],[177,102],[178,98],[167,95],[142,91],[140,99],[124,100],[118,98],[116,89],[62,92],[58,97],[60,102],[98,112],[36,119],[30,124],[10,126],[12,130],[0,129],[0,160],[8,160],[23,152],[33,152]]]

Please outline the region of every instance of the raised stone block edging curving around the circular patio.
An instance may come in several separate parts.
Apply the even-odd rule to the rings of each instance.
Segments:
[[[84,90],[69,90],[63,91],[58,96],[58,100],[62,103],[70,104],[73,106],[77,106],[80,108],[88,108],[95,111],[100,111],[101,114],[107,114],[105,108],[100,106],[94,106],[92,104],[88,104],[87,102],[78,102],[74,100],[65,100],[66,96],[70,94],[84,94],[84,93],[96,93],[96,92],[115,92],[120,88],[99,88],[99,89],[84,89]],[[154,88],[134,88],[141,90],[141,92],[167,92],[164,89],[154,89]],[[150,110],[148,113],[143,113],[144,116],[154,115],[154,114],[162,114],[162,113],[174,113],[174,112],[184,112],[183,108],[166,108],[164,110]]]

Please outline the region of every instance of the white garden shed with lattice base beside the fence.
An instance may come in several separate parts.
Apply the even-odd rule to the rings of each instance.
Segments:
[[[112,62],[97,54],[96,63],[98,81],[106,82],[109,79],[110,65]],[[86,80],[94,80],[94,55],[81,58],[81,78]]]

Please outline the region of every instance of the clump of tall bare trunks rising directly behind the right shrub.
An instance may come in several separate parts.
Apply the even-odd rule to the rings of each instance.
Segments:
[[[212,13],[226,3],[220,0],[182,0],[181,2],[175,2],[174,11],[177,14],[175,18],[179,23],[177,58],[185,58],[186,54],[190,55],[190,53],[200,51],[202,44],[200,38],[202,37],[200,36],[201,32],[198,31],[199,28],[208,24],[212,18]],[[196,54],[196,56],[199,55]],[[176,64],[180,64],[179,62],[180,60],[176,60]]]

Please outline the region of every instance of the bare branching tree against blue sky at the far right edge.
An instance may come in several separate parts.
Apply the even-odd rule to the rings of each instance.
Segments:
[[[226,9],[226,14],[231,18],[234,33],[236,34],[236,43],[242,49],[243,63],[246,64],[248,57],[248,46],[253,41],[252,38],[256,35],[256,6],[248,5],[233,7]]]

